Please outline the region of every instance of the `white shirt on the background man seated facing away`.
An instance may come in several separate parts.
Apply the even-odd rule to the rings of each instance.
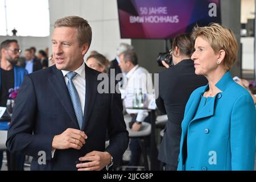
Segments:
[[[125,84],[123,84],[123,88],[120,89],[125,107],[133,107],[134,92],[139,92],[140,88],[143,94],[148,94],[147,82],[151,82],[152,85],[152,78],[147,77],[148,73],[145,68],[139,67],[139,65],[135,65],[135,67],[127,73],[127,81],[124,81]],[[147,110],[126,109],[126,112],[128,114],[137,113],[136,121],[138,122],[144,121],[148,116]]]

